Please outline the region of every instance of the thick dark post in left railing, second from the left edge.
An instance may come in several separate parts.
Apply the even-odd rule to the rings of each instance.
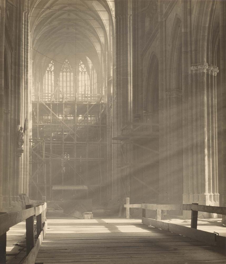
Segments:
[[[26,209],[32,208],[33,205],[26,205]],[[35,245],[35,237],[34,237],[34,216],[30,216],[26,219],[26,248],[27,255],[30,253],[31,249]]]

